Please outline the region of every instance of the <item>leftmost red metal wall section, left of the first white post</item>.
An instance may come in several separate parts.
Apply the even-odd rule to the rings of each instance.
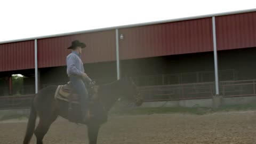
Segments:
[[[35,68],[34,41],[0,45],[0,71]]]

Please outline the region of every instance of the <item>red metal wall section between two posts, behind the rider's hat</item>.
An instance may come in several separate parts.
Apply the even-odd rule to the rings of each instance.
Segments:
[[[86,44],[81,56],[84,63],[116,60],[115,30],[108,30],[38,39],[38,67],[65,66],[70,53],[67,47],[75,39]]]

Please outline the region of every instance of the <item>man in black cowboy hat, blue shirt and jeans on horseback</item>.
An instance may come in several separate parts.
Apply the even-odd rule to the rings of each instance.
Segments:
[[[89,114],[89,93],[85,87],[84,79],[90,79],[84,73],[83,61],[81,60],[82,49],[86,47],[84,43],[75,40],[71,43],[68,49],[72,52],[67,56],[67,75],[70,83],[73,85],[77,94],[81,95],[81,111],[84,122],[90,118]]]

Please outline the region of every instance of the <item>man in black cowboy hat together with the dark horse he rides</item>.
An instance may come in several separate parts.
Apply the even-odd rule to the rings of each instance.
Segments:
[[[84,43],[76,40],[68,47],[72,50],[67,56],[67,74],[70,78],[71,87],[70,84],[49,85],[35,94],[30,107],[23,144],[28,144],[33,134],[36,136],[36,143],[42,144],[45,134],[58,116],[69,119],[70,122],[87,125],[89,143],[96,144],[100,125],[107,122],[108,111],[113,108],[119,98],[133,101],[136,106],[142,104],[137,86],[132,82],[132,79],[121,78],[108,84],[94,85],[94,82],[84,73],[83,62],[80,58],[85,46]],[[87,79],[85,83],[83,82],[84,79]],[[87,88],[89,91],[85,87],[88,82],[89,86]],[[73,89],[76,91],[74,94],[76,96],[72,95]],[[97,97],[90,98],[93,101],[90,103],[92,117],[89,113],[89,93],[95,93],[92,90],[96,89],[97,94],[94,96]],[[80,102],[77,101],[77,94],[81,98]],[[74,100],[73,97],[76,97],[76,99]],[[80,109],[82,109],[82,117]],[[36,126],[37,117],[39,123]]]

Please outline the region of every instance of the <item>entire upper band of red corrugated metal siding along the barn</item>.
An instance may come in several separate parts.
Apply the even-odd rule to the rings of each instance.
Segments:
[[[256,12],[216,17],[218,50],[256,47]],[[158,23],[120,28],[120,59],[157,57],[213,51],[212,19]],[[74,39],[85,42],[84,63],[116,59],[115,29],[38,39],[38,67],[66,65],[67,47]],[[34,41],[0,44],[0,71],[34,68]]]

